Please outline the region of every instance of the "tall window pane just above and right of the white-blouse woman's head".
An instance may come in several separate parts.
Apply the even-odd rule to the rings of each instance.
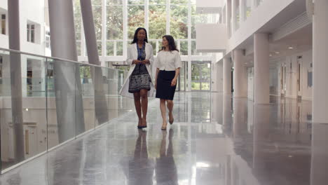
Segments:
[[[170,34],[175,39],[188,39],[188,6],[171,6]]]

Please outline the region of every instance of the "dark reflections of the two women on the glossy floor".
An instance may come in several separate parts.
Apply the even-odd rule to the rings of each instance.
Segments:
[[[127,178],[130,185],[151,185],[153,184],[153,170],[155,170],[157,184],[178,184],[177,168],[173,159],[172,137],[173,130],[169,132],[169,144],[166,149],[167,132],[163,131],[163,138],[160,144],[160,157],[153,160],[148,156],[146,144],[146,131],[138,130],[139,135],[135,144],[135,155],[128,164]],[[155,169],[154,169],[155,168]]]

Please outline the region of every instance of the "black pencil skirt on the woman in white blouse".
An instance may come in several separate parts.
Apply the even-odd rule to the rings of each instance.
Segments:
[[[172,79],[175,78],[175,71],[159,71],[157,76],[156,98],[173,100],[175,88],[171,86]]]

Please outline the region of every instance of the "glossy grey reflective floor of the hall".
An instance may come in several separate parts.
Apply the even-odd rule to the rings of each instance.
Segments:
[[[328,124],[311,102],[254,106],[219,93],[177,93],[175,123],[161,131],[158,100],[148,128],[134,112],[11,170],[0,184],[328,184]]]

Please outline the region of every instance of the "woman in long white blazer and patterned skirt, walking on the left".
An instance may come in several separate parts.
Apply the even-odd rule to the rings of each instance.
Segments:
[[[135,109],[139,118],[137,128],[146,128],[148,97],[153,96],[154,90],[151,80],[153,47],[148,43],[147,32],[143,27],[135,30],[126,62],[130,64],[130,71],[120,90],[120,95],[135,99]]]

